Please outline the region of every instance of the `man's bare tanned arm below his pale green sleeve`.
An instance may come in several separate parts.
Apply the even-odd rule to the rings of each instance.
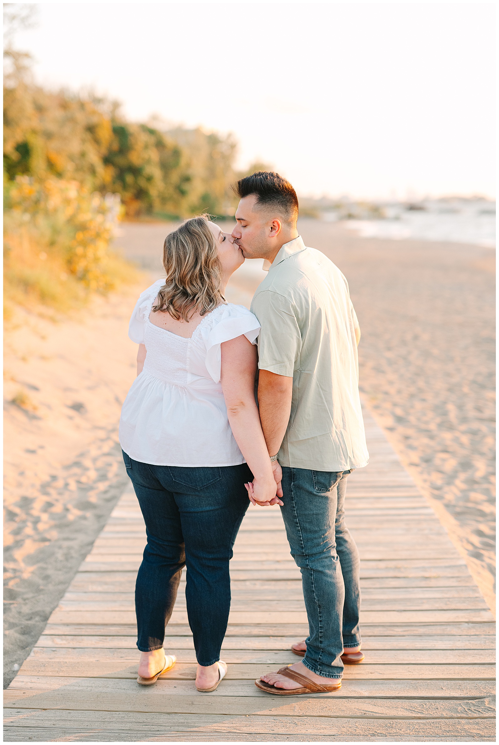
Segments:
[[[260,370],[258,406],[269,455],[275,455],[279,451],[286,434],[291,413],[292,384],[292,378],[269,373],[269,370]]]

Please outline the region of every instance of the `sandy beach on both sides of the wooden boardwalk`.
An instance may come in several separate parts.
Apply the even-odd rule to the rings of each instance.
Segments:
[[[126,484],[119,411],[135,375],[136,297],[161,276],[167,223],[116,238],[136,287],[52,320],[19,312],[5,339],[7,609],[4,682],[16,674]],[[302,219],[307,245],[348,279],[360,320],[360,389],[489,605],[494,536],[494,264],[490,249],[361,238]],[[249,305],[261,261],[233,276]]]

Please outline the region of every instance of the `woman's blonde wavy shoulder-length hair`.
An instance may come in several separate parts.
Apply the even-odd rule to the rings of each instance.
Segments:
[[[157,294],[154,312],[163,311],[175,320],[188,321],[196,311],[204,316],[225,302],[220,291],[222,264],[208,227],[209,219],[209,215],[191,218],[166,236],[166,281]]]

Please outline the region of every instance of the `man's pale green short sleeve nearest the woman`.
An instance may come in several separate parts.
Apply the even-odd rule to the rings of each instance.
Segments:
[[[258,367],[292,378],[301,352],[301,332],[292,302],[276,292],[264,290],[251,304],[262,329],[258,336]]]

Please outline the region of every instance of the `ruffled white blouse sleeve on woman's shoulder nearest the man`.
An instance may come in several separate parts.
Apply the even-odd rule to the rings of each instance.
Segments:
[[[222,372],[222,343],[244,335],[248,341],[256,344],[260,323],[243,305],[225,305],[222,317],[217,318],[207,329],[203,329],[203,332],[207,350],[204,364],[213,381],[219,383]]]

